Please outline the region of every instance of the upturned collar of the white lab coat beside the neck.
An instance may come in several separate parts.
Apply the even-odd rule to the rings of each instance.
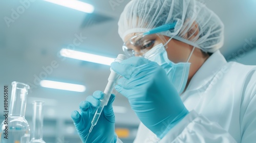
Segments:
[[[186,91],[198,90],[205,86],[226,63],[226,59],[219,50],[212,54],[193,76]]]

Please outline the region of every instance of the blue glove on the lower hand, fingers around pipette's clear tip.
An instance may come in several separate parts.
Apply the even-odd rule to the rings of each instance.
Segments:
[[[78,111],[71,113],[71,118],[74,122],[76,130],[84,143],[91,128],[91,121],[100,105],[100,99],[103,99],[104,93],[102,91],[95,91],[93,96],[87,97],[86,101],[80,103],[80,114]],[[111,94],[108,105],[106,105],[99,117],[97,124],[90,133],[87,142],[116,142],[115,134],[115,114],[113,112],[112,103],[115,95]]]

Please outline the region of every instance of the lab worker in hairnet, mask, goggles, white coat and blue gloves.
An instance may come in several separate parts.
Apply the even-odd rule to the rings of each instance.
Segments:
[[[141,121],[134,142],[256,141],[256,67],[225,60],[214,12],[195,0],[132,0],[118,28],[130,58],[111,68],[123,77],[115,89]],[[83,142],[103,96],[95,91],[71,114]],[[122,142],[114,98],[87,142]]]

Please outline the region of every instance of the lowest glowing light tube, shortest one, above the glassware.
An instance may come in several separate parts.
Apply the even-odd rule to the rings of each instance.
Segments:
[[[69,91],[76,91],[76,92],[86,91],[86,86],[84,85],[57,82],[57,81],[41,80],[40,85],[46,88],[54,88],[54,89],[69,90]]]

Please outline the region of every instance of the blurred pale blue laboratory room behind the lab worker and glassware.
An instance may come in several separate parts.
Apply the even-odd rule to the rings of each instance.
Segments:
[[[58,0],[0,1],[0,94],[3,95],[4,85],[9,85],[11,93],[12,81],[31,86],[26,119],[32,125],[32,101],[45,101],[46,142],[81,142],[70,113],[79,111],[79,103],[95,90],[104,90],[110,74],[108,60],[111,59],[108,58],[123,54],[117,22],[129,0],[80,2],[91,7],[76,5],[75,1],[68,4],[71,8],[60,6]],[[256,65],[256,1],[201,2],[224,22],[225,44],[221,53],[225,58]],[[79,53],[69,54],[65,49]],[[83,55],[86,53],[102,57]],[[84,57],[94,61],[85,61],[88,59]],[[43,87],[42,80],[78,84],[85,88],[47,88]],[[133,142],[139,120],[129,102],[116,91],[114,93],[116,132],[123,142]],[[0,98],[2,122],[3,96]]]

